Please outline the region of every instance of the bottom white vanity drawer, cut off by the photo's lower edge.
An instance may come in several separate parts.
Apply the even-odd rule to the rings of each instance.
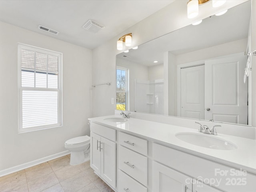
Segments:
[[[124,190],[126,189],[126,191]],[[148,189],[136,180],[118,170],[118,192],[147,192]]]

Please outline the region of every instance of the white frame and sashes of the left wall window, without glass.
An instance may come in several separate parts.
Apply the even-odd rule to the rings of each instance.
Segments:
[[[52,56],[58,57],[58,88],[31,88],[31,87],[22,87],[22,66],[21,66],[21,50],[31,50],[34,52],[40,52],[43,54],[49,54]],[[36,68],[34,69],[36,71]],[[48,71],[47,71],[48,72]],[[47,80],[48,81],[48,80]],[[23,90],[38,90],[38,91],[57,91],[58,92],[58,123],[49,124],[42,126],[34,126],[29,128],[22,128],[22,91]],[[62,126],[62,53],[39,48],[36,46],[31,46],[23,43],[18,43],[18,133],[31,132],[36,130],[44,130],[49,128],[55,128]]]

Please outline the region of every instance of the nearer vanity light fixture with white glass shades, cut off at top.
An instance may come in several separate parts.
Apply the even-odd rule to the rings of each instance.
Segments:
[[[199,5],[202,5],[210,0],[189,0],[187,4],[188,18],[192,19],[198,16]],[[212,7],[216,8],[222,6],[226,0],[212,0]]]

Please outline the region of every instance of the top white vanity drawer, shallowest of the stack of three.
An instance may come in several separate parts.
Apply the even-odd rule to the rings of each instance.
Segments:
[[[118,143],[142,155],[148,155],[148,141],[145,139],[118,132]]]

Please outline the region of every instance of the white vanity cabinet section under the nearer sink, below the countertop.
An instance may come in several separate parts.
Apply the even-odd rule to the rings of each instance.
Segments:
[[[158,168],[154,168],[154,166]],[[188,191],[193,189],[193,192],[221,192],[222,190],[227,192],[255,192],[256,189],[255,175],[246,172],[244,176],[242,176],[239,175],[241,174],[239,169],[224,166],[223,164],[206,160],[158,143],[153,143],[153,172],[154,174],[160,172],[159,178],[153,176],[154,189],[156,187],[165,189],[166,180],[171,182],[170,178],[172,178],[172,176],[176,181],[182,181],[182,179],[179,178],[182,178],[180,175],[184,174],[185,176],[189,175],[193,178],[193,182],[192,180],[187,180],[193,183],[192,188],[187,185]],[[175,176],[174,173],[176,173]],[[236,175],[233,173],[236,173]],[[168,177],[166,175],[168,175]],[[166,179],[161,181],[162,178]],[[198,185],[197,182],[195,182],[196,178],[202,179],[204,184]],[[210,187],[210,185],[212,187]],[[183,192],[185,190],[181,189],[179,191]]]

